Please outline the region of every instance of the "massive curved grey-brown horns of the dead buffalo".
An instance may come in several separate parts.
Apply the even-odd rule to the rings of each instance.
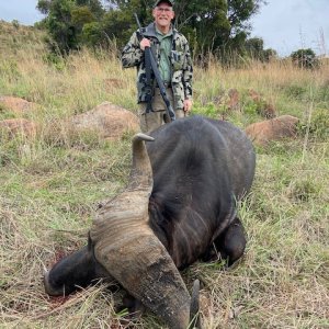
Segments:
[[[168,251],[148,225],[151,166],[144,140],[133,139],[127,189],[99,209],[90,231],[98,261],[170,328],[189,326],[191,297]]]

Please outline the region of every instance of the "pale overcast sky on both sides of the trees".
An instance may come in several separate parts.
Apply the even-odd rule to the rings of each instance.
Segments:
[[[329,0],[268,0],[252,20],[251,36],[262,37],[264,48],[287,56],[299,48],[329,54]],[[37,0],[0,0],[0,19],[31,25],[42,20]]]

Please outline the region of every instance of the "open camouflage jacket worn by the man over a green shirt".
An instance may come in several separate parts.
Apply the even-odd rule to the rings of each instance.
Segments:
[[[156,36],[155,23],[143,27],[144,36],[151,42],[151,50],[159,65],[160,61],[160,42]],[[172,46],[170,54],[171,63],[171,87],[174,98],[174,109],[183,109],[183,101],[192,99],[192,78],[193,67],[190,47],[186,38],[175,29],[172,30]],[[122,53],[122,65],[124,68],[137,67],[137,92],[138,103],[146,102],[146,72],[144,52],[139,47],[141,35],[136,31]],[[156,82],[152,83],[156,86]]]

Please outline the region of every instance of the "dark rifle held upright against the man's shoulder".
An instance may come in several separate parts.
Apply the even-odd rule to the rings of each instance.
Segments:
[[[134,15],[135,15],[138,29],[139,29],[139,33],[141,35],[141,37],[144,37],[144,33],[143,33],[138,16],[137,16],[136,13],[134,13]],[[151,71],[152,71],[155,77],[156,77],[158,87],[160,89],[162,100],[166,104],[167,115],[170,117],[170,121],[174,121],[175,120],[174,112],[173,112],[173,109],[172,109],[172,106],[170,104],[170,101],[167,97],[166,87],[164,87],[164,83],[161,79],[157,63],[155,60],[155,57],[154,57],[154,54],[152,54],[150,47],[145,47],[145,70],[146,70],[146,81],[147,81],[147,88],[148,88],[148,90],[147,90],[146,112],[149,113],[150,111],[152,111],[152,109],[151,109],[151,92],[150,92],[150,84],[151,84],[150,80],[151,80]]]

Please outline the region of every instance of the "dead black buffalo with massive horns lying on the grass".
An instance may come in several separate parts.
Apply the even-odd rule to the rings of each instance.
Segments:
[[[191,296],[179,270],[217,252],[229,264],[242,256],[237,201],[253,174],[252,145],[228,122],[194,116],[137,134],[127,188],[98,211],[88,246],[45,274],[46,292],[114,277],[170,328],[186,328]]]

